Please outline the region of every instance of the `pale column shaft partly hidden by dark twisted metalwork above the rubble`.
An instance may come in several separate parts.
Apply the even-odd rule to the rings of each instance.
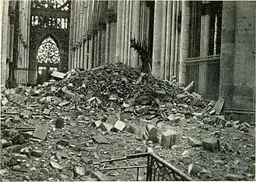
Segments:
[[[133,13],[132,13],[132,33],[131,36],[135,39],[140,39],[140,11],[141,11],[141,2],[134,1],[133,2]],[[138,66],[138,54],[134,49],[131,51],[131,67]]]

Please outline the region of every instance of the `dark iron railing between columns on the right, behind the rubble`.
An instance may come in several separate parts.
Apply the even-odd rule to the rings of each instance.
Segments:
[[[204,99],[217,100],[219,97],[220,86],[220,55],[210,55],[207,57],[187,58],[186,64],[186,85],[194,81],[194,92],[200,93],[200,66],[206,65],[206,90],[207,94]]]

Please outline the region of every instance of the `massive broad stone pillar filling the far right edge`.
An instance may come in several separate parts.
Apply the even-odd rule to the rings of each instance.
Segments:
[[[255,116],[256,2],[235,2],[235,58],[232,108]],[[255,118],[245,121],[255,123]]]

